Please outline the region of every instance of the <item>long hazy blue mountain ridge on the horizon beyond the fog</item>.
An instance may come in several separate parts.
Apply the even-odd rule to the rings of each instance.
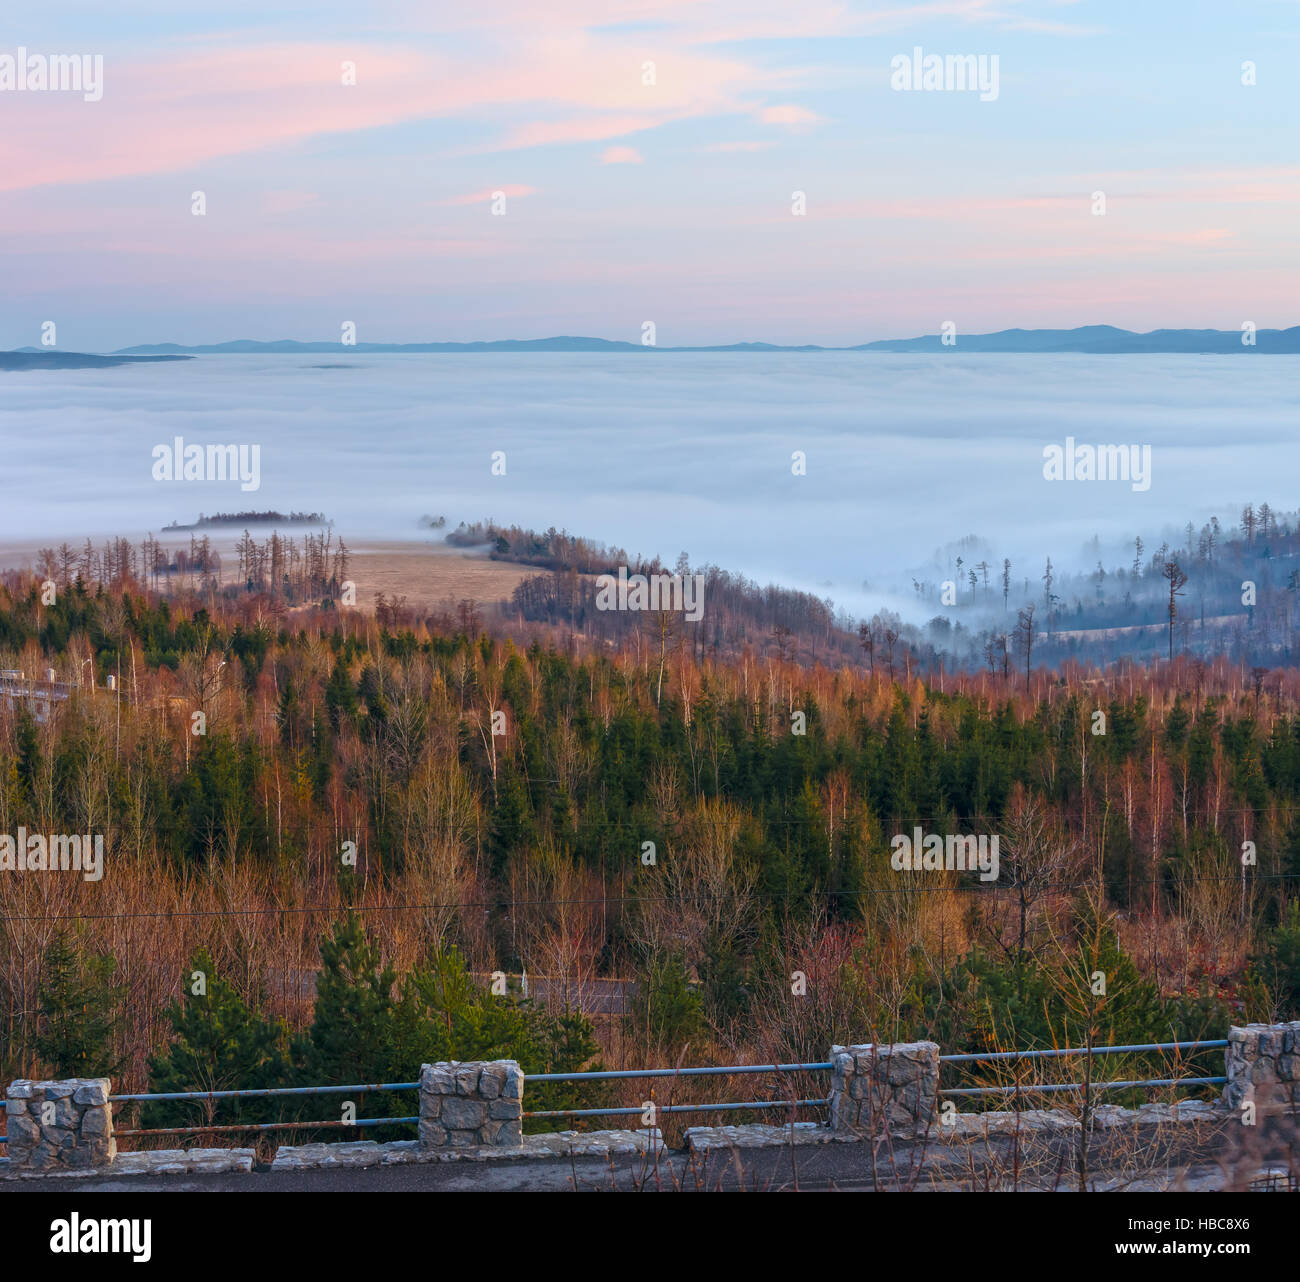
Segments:
[[[939,334],[919,338],[883,338],[852,347],[822,347],[816,343],[784,346],[781,343],[719,343],[694,347],[646,347],[641,343],[610,338],[582,338],[560,335],[555,338],[504,338],[473,343],[355,343],[347,350],[358,354],[430,352],[818,352],[818,351],[879,351],[879,352],[1006,352],[1054,354],[1080,352],[1088,355],[1152,355],[1152,354],[1217,354],[1256,352],[1265,355],[1300,354],[1300,325],[1291,329],[1260,329],[1254,343],[1243,343],[1239,329],[1153,329],[1140,334],[1114,325],[1083,325],[1078,329],[1001,329],[992,334],[956,335],[956,342],[945,345]],[[144,343],[124,347],[114,356],[159,355],[222,355],[222,354],[300,354],[315,355],[338,352],[342,343],[304,343],[295,339],[259,342],[239,338],[228,343],[203,343],[185,347],[178,343]]]

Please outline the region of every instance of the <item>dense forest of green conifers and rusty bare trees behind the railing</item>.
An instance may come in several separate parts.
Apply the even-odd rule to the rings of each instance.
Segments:
[[[0,831],[101,832],[105,857],[94,884],[0,874],[0,1070],[410,1080],[480,1049],[790,1062],[1218,1038],[1300,1010],[1291,671],[923,679],[858,645],[797,663],[774,637],[715,657],[512,627],[289,615],[200,584],[74,580],[43,605],[8,576],[0,667],[52,667],[72,697],[44,722],[0,711]],[[998,882],[893,871],[915,824],[1000,835]],[[237,1060],[186,1023],[202,958],[222,995],[202,1018],[243,1030]],[[484,995],[525,970],[545,1010]],[[625,982],[618,1001],[597,1009],[597,980]],[[69,1023],[91,1008],[98,1032]],[[372,1058],[347,1058],[337,1021],[372,1017]]]

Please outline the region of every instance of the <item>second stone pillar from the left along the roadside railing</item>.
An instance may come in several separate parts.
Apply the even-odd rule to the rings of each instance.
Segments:
[[[425,1064],[421,1148],[517,1148],[524,1143],[524,1074],[514,1060]]]

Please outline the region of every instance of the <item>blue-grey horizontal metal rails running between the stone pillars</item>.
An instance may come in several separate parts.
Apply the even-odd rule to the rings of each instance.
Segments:
[[[1200,1052],[1216,1051],[1227,1047],[1227,1039],[1206,1041],[1147,1041],[1132,1045],[1106,1045],[1106,1047],[1063,1047],[1048,1051],[984,1051],[963,1054],[941,1054],[940,1065],[945,1064],[1020,1064],[1026,1061],[1054,1060],[1063,1056],[1106,1056],[1106,1054],[1145,1054],[1153,1052]],[[790,1073],[828,1073],[835,1067],[831,1060],[818,1060],[806,1064],[731,1064],[708,1065],[689,1069],[610,1069],[593,1073],[533,1073],[528,1074],[528,1083],[594,1083],[640,1079],[677,1079],[677,1078],[703,1078],[703,1077],[732,1077],[746,1074],[775,1073],[786,1075]],[[1202,1087],[1218,1086],[1227,1080],[1226,1077],[1184,1077],[1184,1078],[1140,1078],[1117,1082],[1065,1082],[1065,1083],[1026,1083],[1020,1080],[1008,1082],[998,1086],[965,1086],[946,1087],[940,1090],[940,1096],[984,1096],[984,1095],[1039,1095],[1061,1091],[1114,1091],[1114,1090],[1140,1090],[1144,1087]],[[217,1100],[244,1100],[244,1099],[276,1099],[286,1096],[312,1096],[312,1095],[367,1095],[382,1091],[416,1091],[420,1083],[416,1082],[373,1082],[358,1086],[290,1086],[265,1087],[259,1090],[233,1090],[233,1091],[146,1091],[131,1095],[110,1095],[110,1104],[147,1104],[165,1101],[217,1101]],[[727,1113],[744,1109],[809,1109],[824,1108],[829,1104],[829,1097],[815,1099],[781,1099],[781,1100],[725,1100],[711,1104],[658,1104],[655,1103],[655,1116],[677,1113]],[[645,1112],[641,1106],[621,1108],[562,1108],[562,1109],[533,1109],[524,1112],[524,1119],[554,1119],[560,1117],[634,1117]],[[209,1126],[159,1126],[134,1127],[129,1130],[114,1130],[118,1136],[142,1135],[209,1135],[222,1131],[304,1131],[304,1130],[351,1130],[354,1127],[373,1126],[408,1126],[419,1122],[419,1117],[365,1117],[354,1121],[324,1121],[304,1118],[291,1122],[222,1122]],[[5,1143],[5,1136],[0,1135],[0,1144]]]

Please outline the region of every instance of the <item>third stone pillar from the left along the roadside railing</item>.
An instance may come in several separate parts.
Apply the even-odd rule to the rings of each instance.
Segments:
[[[935,1122],[939,1045],[831,1047],[831,1129],[846,1135],[920,1131]]]

